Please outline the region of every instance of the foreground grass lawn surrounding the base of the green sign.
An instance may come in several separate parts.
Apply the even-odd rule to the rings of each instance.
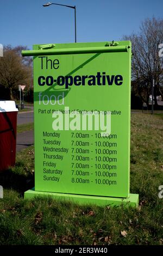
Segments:
[[[131,115],[130,192],[140,195],[138,209],[24,200],[34,185],[34,149],[22,150],[0,175],[0,245],[162,245],[162,141],[163,114]]]

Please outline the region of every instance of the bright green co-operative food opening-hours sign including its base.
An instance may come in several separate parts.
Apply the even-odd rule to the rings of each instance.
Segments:
[[[34,45],[23,55],[34,56],[35,190],[25,196],[137,205],[129,193],[130,41]]]

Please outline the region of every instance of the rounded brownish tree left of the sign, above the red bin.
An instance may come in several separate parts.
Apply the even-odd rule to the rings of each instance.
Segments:
[[[12,90],[18,84],[29,86],[32,83],[32,66],[29,59],[23,59],[20,49],[24,47],[4,47],[3,57],[0,58],[0,84],[9,88],[10,99],[13,99]],[[26,48],[26,47],[25,47]]]

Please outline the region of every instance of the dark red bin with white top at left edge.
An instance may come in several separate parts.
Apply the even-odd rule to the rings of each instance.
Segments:
[[[15,101],[0,101],[0,172],[15,165],[17,111]]]

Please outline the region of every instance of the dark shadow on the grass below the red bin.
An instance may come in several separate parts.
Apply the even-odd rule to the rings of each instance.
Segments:
[[[15,190],[23,196],[25,191],[34,187],[34,174],[18,174],[9,168],[0,173],[0,184],[3,188]]]

